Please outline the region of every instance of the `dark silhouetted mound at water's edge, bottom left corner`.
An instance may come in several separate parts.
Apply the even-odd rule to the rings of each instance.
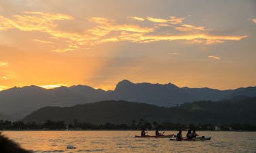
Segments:
[[[31,153],[21,148],[16,142],[9,140],[0,132],[0,152],[3,153]]]

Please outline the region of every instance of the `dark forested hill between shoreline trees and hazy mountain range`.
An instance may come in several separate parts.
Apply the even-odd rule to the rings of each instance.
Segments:
[[[221,100],[221,102],[197,101],[165,108],[137,102],[107,100],[70,107],[47,106],[26,116],[22,121],[74,121],[103,124],[131,123],[144,119],[148,122],[172,123],[249,123],[256,125],[256,97],[243,100]]]

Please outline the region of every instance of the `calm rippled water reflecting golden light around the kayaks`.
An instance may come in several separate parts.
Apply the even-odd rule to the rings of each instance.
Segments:
[[[177,131],[165,131],[171,133]],[[134,137],[140,131],[3,131],[3,135],[33,152],[256,152],[256,132],[198,131],[198,134],[212,139],[173,142],[169,138]],[[66,149],[68,144],[77,149]]]

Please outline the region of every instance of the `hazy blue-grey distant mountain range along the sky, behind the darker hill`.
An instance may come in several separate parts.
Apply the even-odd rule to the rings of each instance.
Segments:
[[[113,91],[95,90],[82,85],[50,90],[26,86],[0,92],[0,113],[21,119],[44,106],[73,106],[101,100],[127,100],[169,107],[184,102],[222,100],[234,96],[256,96],[256,87],[222,91],[211,88],[179,88],[171,83],[133,84],[128,80],[119,82]]]

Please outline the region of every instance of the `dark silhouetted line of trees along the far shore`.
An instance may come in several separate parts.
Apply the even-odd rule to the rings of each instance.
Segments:
[[[140,129],[160,129],[160,130],[178,130],[178,129],[197,129],[197,130],[242,130],[242,131],[256,131],[255,125],[232,123],[230,125],[211,125],[211,124],[180,124],[156,121],[150,123],[140,119],[138,121],[131,121],[130,124],[113,124],[106,122],[105,124],[91,124],[80,123],[74,119],[74,123],[66,124],[64,121],[47,120],[45,123],[26,122],[23,121],[7,121],[0,120],[0,130],[62,130],[62,129],[125,129],[125,130],[140,130]]]

